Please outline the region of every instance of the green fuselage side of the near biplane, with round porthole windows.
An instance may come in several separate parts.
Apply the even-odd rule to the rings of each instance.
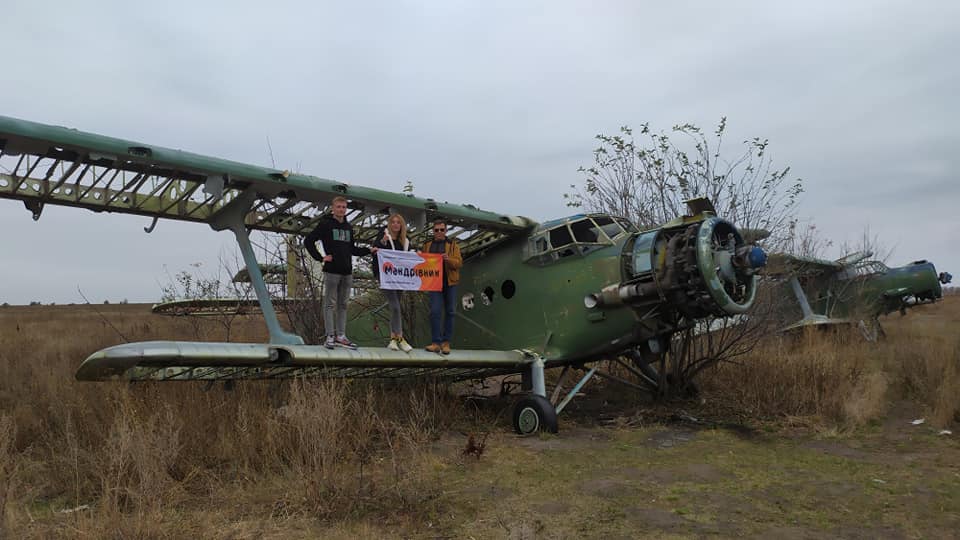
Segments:
[[[527,349],[551,363],[590,358],[635,340],[637,316],[629,308],[605,311],[584,306],[587,293],[623,279],[621,251],[629,237],[585,254],[549,264],[524,262],[526,238],[507,241],[464,262],[456,291],[452,345],[456,349]],[[406,293],[409,295],[426,293]],[[467,299],[466,301],[464,299]],[[426,302],[417,306],[412,336],[430,342]],[[466,305],[465,305],[466,304]],[[359,314],[351,332],[362,345],[383,346],[388,325],[373,324],[385,315]]]

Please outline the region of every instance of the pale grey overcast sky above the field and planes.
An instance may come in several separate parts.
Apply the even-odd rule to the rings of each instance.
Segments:
[[[0,115],[268,166],[269,138],[281,168],[537,220],[595,134],[726,116],[825,236],[960,274],[958,2],[212,4],[7,0]],[[232,257],[148,224],[0,200],[0,301],[156,301]]]

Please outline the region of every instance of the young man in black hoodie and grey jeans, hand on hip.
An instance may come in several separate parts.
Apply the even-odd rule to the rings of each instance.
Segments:
[[[357,344],[347,337],[347,301],[353,287],[353,256],[376,253],[377,248],[358,247],[354,242],[353,226],[347,221],[346,198],[334,198],[332,208],[332,215],[321,218],[307,235],[304,247],[311,257],[323,261],[323,328],[327,333],[324,346],[328,349],[337,345],[356,349]]]

